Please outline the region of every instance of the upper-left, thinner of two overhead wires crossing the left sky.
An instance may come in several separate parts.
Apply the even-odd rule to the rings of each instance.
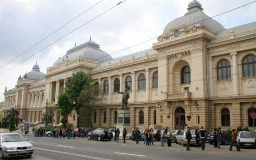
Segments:
[[[35,43],[33,46],[31,46],[29,49],[25,50],[24,52],[22,52],[21,54],[19,54],[17,57],[15,57],[14,59],[12,59],[11,61],[7,62],[6,64],[4,64],[3,66],[0,67],[4,68],[6,65],[10,64],[12,61],[16,60],[17,58],[19,58],[20,56],[22,56],[23,54],[25,54],[26,52],[28,52],[30,49],[32,49],[33,47],[37,46],[39,43],[41,43],[42,41],[44,41],[46,38],[50,37],[51,35],[53,35],[54,33],[56,33],[57,31],[59,31],[61,28],[67,26],[69,23],[71,23],[72,21],[74,21],[76,18],[78,18],[79,16],[83,15],[85,12],[89,11],[91,8],[95,7],[97,4],[101,3],[103,0],[100,0],[98,3],[95,3],[93,6],[91,6],[90,8],[86,9],[85,11],[83,11],[81,14],[79,14],[78,16],[76,16],[75,18],[69,20],[67,23],[65,23],[63,26],[59,27],[57,30],[53,31],[52,33],[50,33],[48,36],[46,36],[45,38],[41,39],[40,41],[38,41],[37,43]]]

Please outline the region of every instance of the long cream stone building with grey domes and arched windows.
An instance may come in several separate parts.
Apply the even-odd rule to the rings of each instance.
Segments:
[[[140,129],[169,126],[181,129],[204,126],[207,130],[253,127],[256,112],[256,22],[226,29],[203,12],[196,0],[184,16],[163,29],[152,49],[113,59],[94,41],[72,47],[46,74],[35,64],[19,77],[15,88],[4,93],[2,115],[18,108],[20,118],[41,121],[54,108],[55,125],[60,114],[54,107],[64,92],[66,79],[83,71],[103,89],[101,102],[93,107],[94,126],[117,125],[125,88],[129,90],[130,126]],[[85,115],[71,114],[68,123],[80,125]]]

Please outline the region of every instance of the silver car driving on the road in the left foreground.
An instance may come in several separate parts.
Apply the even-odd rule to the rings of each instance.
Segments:
[[[7,157],[31,157],[33,145],[19,133],[0,134],[0,159]]]

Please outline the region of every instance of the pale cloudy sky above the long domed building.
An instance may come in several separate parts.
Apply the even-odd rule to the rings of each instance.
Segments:
[[[79,45],[88,41],[90,35],[92,40],[113,58],[151,48],[152,43],[157,42],[157,39],[112,54],[161,35],[167,23],[187,12],[188,3],[192,0],[126,0],[67,37],[46,47],[121,1],[103,0],[4,66],[99,1],[101,0],[0,0],[0,101],[4,100],[5,87],[14,88],[19,75],[23,76],[25,72],[30,72],[36,62],[41,72],[46,73],[47,67],[52,66],[68,49],[74,47],[75,43]],[[203,12],[211,17],[253,0],[198,1],[202,4]],[[255,22],[255,8],[256,3],[253,3],[214,19],[225,28]],[[42,50],[44,47],[46,48]],[[35,54],[39,50],[42,51]],[[32,54],[35,56],[22,62]]]

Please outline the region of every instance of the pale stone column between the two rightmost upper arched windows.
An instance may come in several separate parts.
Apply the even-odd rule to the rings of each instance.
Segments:
[[[233,62],[233,87],[234,87],[234,96],[239,96],[239,76],[238,76],[238,62],[237,62],[237,53],[231,53],[232,62]]]

